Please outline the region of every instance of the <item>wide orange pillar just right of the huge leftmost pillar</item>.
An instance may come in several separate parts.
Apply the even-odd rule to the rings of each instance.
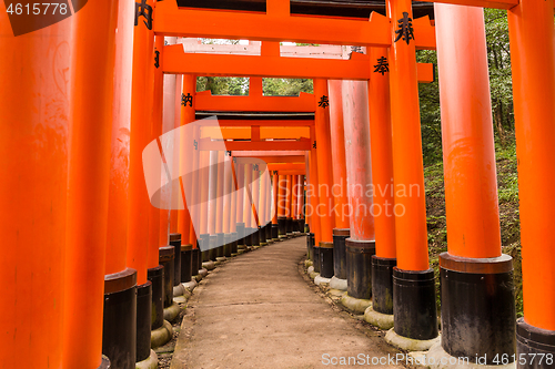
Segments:
[[[102,366],[102,300],[118,1],[90,3],[72,16],[72,21],[69,91],[72,95],[70,122],[74,124],[68,150],[62,367],[92,369]],[[91,73],[92,70],[94,73]],[[87,247],[80,247],[83,244]],[[83,320],[82,316],[87,319]]]

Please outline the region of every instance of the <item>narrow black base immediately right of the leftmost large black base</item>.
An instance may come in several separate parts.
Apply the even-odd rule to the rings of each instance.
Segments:
[[[137,286],[137,362],[150,357],[150,327],[152,316],[152,284]]]

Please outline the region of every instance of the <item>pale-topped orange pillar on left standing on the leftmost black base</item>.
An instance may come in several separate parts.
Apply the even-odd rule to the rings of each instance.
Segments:
[[[134,4],[118,6],[102,353],[111,366],[131,369],[137,357],[137,270],[127,268],[127,248]]]

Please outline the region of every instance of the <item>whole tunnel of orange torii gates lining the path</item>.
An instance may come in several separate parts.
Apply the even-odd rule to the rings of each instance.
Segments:
[[[553,0],[440,2],[427,4],[431,21],[413,19],[408,0],[389,0],[370,19],[292,14],[287,0],[268,0],[265,12],[89,1],[17,38],[0,6],[2,367],[152,360],[151,336],[174,314],[173,294],[203,265],[305,232],[322,277],[354,299],[372,296],[398,337],[437,340],[417,95],[417,83],[434,75],[415,59],[416,49],[436,49],[448,230],[441,348],[471,361],[487,355],[485,363],[501,363],[493,360],[503,355],[519,368],[553,368],[531,361],[555,352]],[[500,236],[482,8],[508,10],[518,320]],[[201,37],[255,41],[238,52],[182,39]],[[349,54],[346,45],[356,48]],[[250,94],[196,93],[196,75],[250,76]],[[263,96],[262,78],[313,79],[314,93]],[[203,204],[196,227],[186,207],[151,205],[142,152],[209,115],[225,150],[214,150],[213,127],[199,126],[183,141],[194,151],[179,157],[192,163]],[[212,165],[222,157],[233,171]],[[343,191],[327,191],[333,185]],[[226,191],[234,204],[220,201]],[[170,196],[179,194],[178,186]]]

